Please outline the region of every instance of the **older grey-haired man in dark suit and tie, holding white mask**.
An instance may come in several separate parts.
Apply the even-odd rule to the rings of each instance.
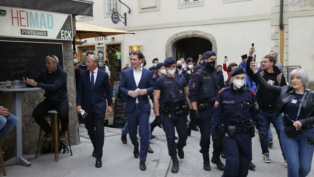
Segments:
[[[87,70],[81,73],[79,78],[76,111],[82,109],[87,113],[85,117],[85,128],[92,141],[96,158],[96,168],[102,166],[101,158],[103,156],[104,146],[104,124],[106,113],[106,98],[108,101],[108,114],[112,112],[112,93],[109,85],[108,74],[97,68],[98,58],[96,55],[89,55],[86,58]],[[104,96],[104,90],[106,97]]]

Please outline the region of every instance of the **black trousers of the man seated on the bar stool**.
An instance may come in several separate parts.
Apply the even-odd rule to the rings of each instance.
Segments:
[[[61,124],[61,132],[66,132],[69,125],[69,103],[67,101],[47,101],[39,103],[33,110],[33,117],[44,132],[51,133],[52,129],[45,119],[46,112],[57,110]]]

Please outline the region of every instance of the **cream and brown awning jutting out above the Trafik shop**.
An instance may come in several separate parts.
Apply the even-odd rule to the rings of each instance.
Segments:
[[[79,21],[76,21],[75,25],[76,25],[76,34],[75,34],[76,40],[90,38],[90,37],[111,36],[111,35],[117,35],[117,34],[135,34],[129,31],[107,28],[103,26],[82,23]]]

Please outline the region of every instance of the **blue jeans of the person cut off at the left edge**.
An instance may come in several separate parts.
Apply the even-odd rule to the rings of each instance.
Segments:
[[[16,125],[17,121],[17,117],[11,113],[5,117],[0,115],[0,140]]]

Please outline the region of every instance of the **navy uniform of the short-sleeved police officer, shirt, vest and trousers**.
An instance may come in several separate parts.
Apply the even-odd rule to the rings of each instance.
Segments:
[[[159,77],[154,86],[154,89],[160,90],[160,115],[163,131],[167,139],[169,156],[176,155],[177,153],[174,142],[174,127],[179,137],[177,145],[180,147],[186,146],[187,127],[185,113],[182,109],[185,100],[185,87],[187,87],[187,83],[183,77],[169,78],[166,75]],[[180,112],[181,110],[182,112]],[[180,112],[181,114],[176,114],[176,112]]]

